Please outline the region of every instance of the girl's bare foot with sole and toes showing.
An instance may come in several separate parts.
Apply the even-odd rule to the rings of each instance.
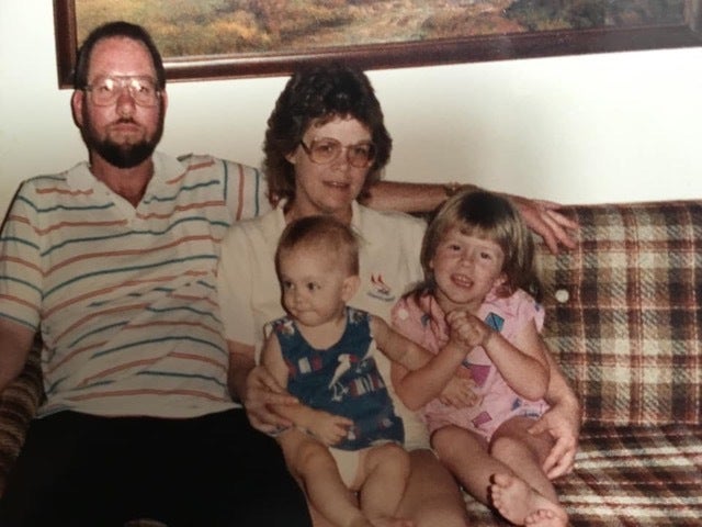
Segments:
[[[568,515],[561,505],[546,500],[514,475],[495,474],[490,497],[495,508],[514,525],[565,527],[568,524]]]

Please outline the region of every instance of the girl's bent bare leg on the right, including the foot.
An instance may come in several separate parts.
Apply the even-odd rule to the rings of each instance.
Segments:
[[[516,417],[492,436],[490,453],[511,469],[496,471],[490,486],[492,503],[517,525],[565,526],[567,513],[541,468],[552,439],[529,435],[526,428],[532,424],[529,418]]]

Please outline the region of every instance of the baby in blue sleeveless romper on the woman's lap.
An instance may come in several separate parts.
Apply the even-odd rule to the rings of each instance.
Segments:
[[[268,325],[261,360],[302,403],[276,408],[294,424],[278,440],[312,505],[333,525],[411,527],[395,517],[409,456],[374,352],[414,370],[433,356],[382,318],[347,306],[359,285],[358,244],[332,216],[288,224],[275,255],[287,315]],[[349,490],[359,492],[360,506]]]

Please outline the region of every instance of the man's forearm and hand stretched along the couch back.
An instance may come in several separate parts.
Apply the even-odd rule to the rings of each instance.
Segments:
[[[380,181],[371,188],[371,195],[364,204],[377,210],[403,211],[408,213],[431,212],[446,198],[458,190],[475,189],[473,184],[457,183],[406,183]],[[558,212],[559,205],[551,201],[530,200],[520,195],[501,193],[510,198],[524,217],[526,225],[544,238],[552,253],[558,253],[558,245],[574,248],[575,242],[569,231],[578,224]]]

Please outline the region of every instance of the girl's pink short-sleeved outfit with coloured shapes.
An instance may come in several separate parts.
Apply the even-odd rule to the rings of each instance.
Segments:
[[[449,341],[449,330],[444,313],[437,300],[424,294],[416,300],[403,298],[393,309],[393,325],[409,339],[438,354]],[[541,332],[544,311],[526,292],[518,290],[508,298],[490,293],[478,312],[478,317],[499,330],[509,341],[533,321]],[[455,425],[473,430],[488,441],[495,430],[506,421],[516,416],[539,418],[548,410],[545,401],[529,401],[518,395],[505,381],[483,347],[475,347],[467,355],[457,374],[472,378],[475,392],[483,399],[468,408],[455,408],[442,404],[438,399],[423,408],[423,418],[433,434],[439,428]]]

